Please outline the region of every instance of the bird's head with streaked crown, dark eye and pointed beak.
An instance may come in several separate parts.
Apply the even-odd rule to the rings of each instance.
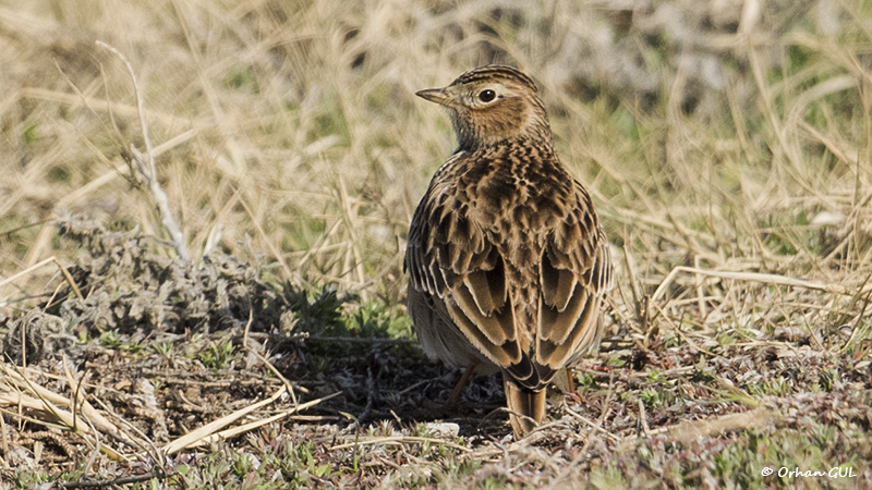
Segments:
[[[461,148],[519,138],[552,143],[548,117],[536,85],[511,66],[480,66],[445,88],[428,88],[415,95],[448,109]]]

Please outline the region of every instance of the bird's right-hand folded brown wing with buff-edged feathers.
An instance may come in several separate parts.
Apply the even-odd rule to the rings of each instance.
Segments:
[[[548,235],[540,262],[535,364],[553,371],[598,342],[611,254],[590,196],[574,183],[574,206]],[[550,379],[550,377],[548,377]]]

